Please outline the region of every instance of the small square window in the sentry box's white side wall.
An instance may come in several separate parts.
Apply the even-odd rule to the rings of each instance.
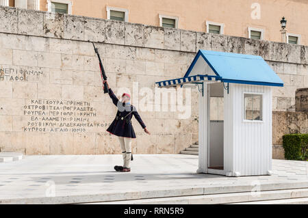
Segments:
[[[244,120],[263,120],[261,94],[244,93]]]

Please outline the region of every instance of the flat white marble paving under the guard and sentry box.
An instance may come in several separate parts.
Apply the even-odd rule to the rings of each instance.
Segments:
[[[120,154],[24,156],[0,163],[0,201],[16,198],[97,195],[127,191],[181,189],[253,182],[308,181],[307,161],[273,160],[272,176],[239,178],[196,174],[198,156],[133,154],[132,172],[114,172]]]

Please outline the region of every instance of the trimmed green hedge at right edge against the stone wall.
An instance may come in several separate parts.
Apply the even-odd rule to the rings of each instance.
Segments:
[[[283,149],[285,150],[285,159],[307,161],[308,134],[283,135]]]

